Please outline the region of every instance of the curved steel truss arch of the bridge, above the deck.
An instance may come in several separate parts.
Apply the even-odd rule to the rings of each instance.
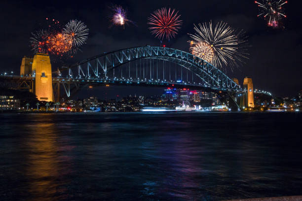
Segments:
[[[70,78],[76,76],[77,78],[98,79],[107,77],[107,73],[112,71],[114,76],[116,68],[140,59],[159,59],[176,63],[199,77],[202,80],[200,85],[204,87],[228,91],[240,89],[239,85],[217,67],[188,52],[167,47],[145,46],[121,49],[89,58],[70,67],[62,67],[61,70],[67,69]]]

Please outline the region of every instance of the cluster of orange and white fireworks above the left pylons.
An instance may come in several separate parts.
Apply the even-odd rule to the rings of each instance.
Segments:
[[[48,18],[46,18],[48,21]],[[30,38],[34,52],[49,53],[59,56],[76,53],[76,50],[87,40],[88,29],[84,23],[71,20],[62,30],[59,21],[48,21],[47,30],[39,30],[32,33]]]

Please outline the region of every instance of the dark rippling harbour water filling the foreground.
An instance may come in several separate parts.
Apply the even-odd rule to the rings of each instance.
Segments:
[[[0,114],[0,200],[302,195],[299,113]]]

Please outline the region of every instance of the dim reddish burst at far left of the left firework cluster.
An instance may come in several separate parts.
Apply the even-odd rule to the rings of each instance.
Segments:
[[[30,43],[34,52],[46,53],[48,51],[50,34],[46,30],[38,30],[32,33]]]

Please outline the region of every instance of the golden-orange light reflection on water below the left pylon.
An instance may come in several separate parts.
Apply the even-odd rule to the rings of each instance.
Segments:
[[[30,135],[25,145],[30,148],[25,175],[31,201],[60,200],[60,155],[55,124],[39,123],[27,126]],[[62,192],[63,191],[63,192]]]

